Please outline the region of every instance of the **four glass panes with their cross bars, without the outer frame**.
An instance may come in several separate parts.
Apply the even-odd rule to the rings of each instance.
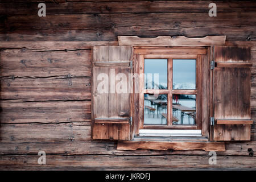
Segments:
[[[196,59],[144,59],[144,93],[144,125],[196,125]]]

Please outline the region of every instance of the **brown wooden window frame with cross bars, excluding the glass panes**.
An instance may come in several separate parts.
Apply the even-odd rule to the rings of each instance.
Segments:
[[[167,89],[158,90],[159,94],[167,94],[167,125],[144,125],[144,94],[155,93],[155,89],[144,89],[144,77],[139,77],[139,96],[134,98],[134,102],[138,102],[139,113],[134,108],[133,113],[139,114],[138,121],[135,121],[134,134],[139,135],[140,129],[177,129],[177,130],[202,130],[202,112],[201,112],[201,73],[202,73],[202,54],[208,54],[208,47],[133,47],[134,65],[138,68],[134,69],[134,73],[141,75],[144,73],[144,59],[167,59]],[[178,90],[172,89],[172,60],[173,59],[196,59],[196,89]],[[170,76],[171,73],[171,76]],[[210,79],[210,77],[209,77]],[[196,95],[196,125],[172,125],[172,94],[195,94]],[[136,101],[137,100],[137,101]],[[208,123],[207,123],[208,125]],[[208,137],[208,130],[202,133],[202,136]]]

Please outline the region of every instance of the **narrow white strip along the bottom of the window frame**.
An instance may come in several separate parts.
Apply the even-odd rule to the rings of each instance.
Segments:
[[[139,130],[139,136],[145,137],[202,137],[201,130]]]

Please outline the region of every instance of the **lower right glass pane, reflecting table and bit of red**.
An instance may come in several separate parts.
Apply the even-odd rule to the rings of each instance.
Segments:
[[[196,95],[172,95],[172,125],[195,125]]]

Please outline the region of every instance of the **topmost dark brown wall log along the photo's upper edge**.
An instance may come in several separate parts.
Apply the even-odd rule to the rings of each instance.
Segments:
[[[56,0],[55,0],[56,1]],[[60,0],[59,0],[60,1]],[[57,2],[59,2],[57,1]],[[63,0],[62,0],[63,1]],[[135,0],[133,0],[135,1]],[[208,5],[211,1],[68,1],[65,3],[46,3],[47,14],[93,14],[93,13],[163,13],[163,12],[197,12],[208,13]],[[18,3],[20,2],[20,3]],[[40,1],[29,1],[30,6],[27,6],[26,1],[1,1],[0,14],[6,15],[22,15],[35,14],[38,10]],[[48,0],[44,2],[53,2]],[[97,2],[97,3],[96,3]],[[17,11],[19,10],[19,11]],[[218,12],[245,12],[254,11],[255,2],[218,2]]]

